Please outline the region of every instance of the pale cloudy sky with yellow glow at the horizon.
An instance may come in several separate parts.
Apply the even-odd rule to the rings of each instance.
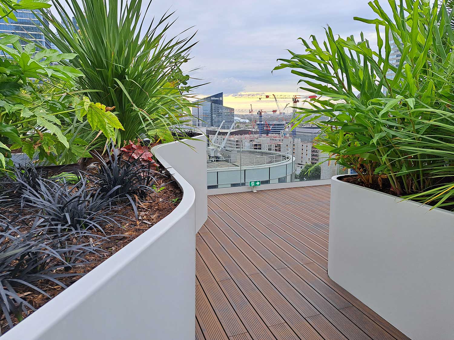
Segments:
[[[143,0],[143,7],[149,0]],[[379,0],[387,8],[385,0]],[[359,37],[363,31],[376,44],[375,26],[353,20],[354,16],[376,18],[367,0],[153,0],[146,22],[175,11],[169,34],[197,31],[198,43],[183,71],[191,71],[192,84],[209,83],[197,89],[201,95],[224,92],[224,105],[236,109],[271,111],[274,100],[232,97],[234,93],[305,95],[298,91],[296,75],[290,69],[271,73],[277,58],[288,58],[290,49],[304,53],[297,40],[316,35],[325,37],[327,24],[334,34]],[[281,99],[282,107],[291,99]],[[291,106],[291,105],[290,105]]]

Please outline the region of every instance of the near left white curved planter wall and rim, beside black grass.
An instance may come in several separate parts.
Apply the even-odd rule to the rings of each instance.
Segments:
[[[155,155],[170,168],[166,146]],[[0,339],[193,340],[196,194],[178,172],[173,177],[183,199],[171,214]]]

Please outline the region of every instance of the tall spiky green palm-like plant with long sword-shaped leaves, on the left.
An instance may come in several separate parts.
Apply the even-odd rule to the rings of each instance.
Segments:
[[[98,90],[87,93],[90,99],[116,107],[124,127],[117,131],[117,144],[147,137],[173,140],[169,128],[191,119],[192,87],[181,86],[187,80],[181,67],[195,44],[193,35],[166,39],[173,13],[146,27],[142,0],[66,0],[69,12],[63,2],[53,3],[58,16],[42,13],[56,32],[44,27],[44,34],[61,51],[78,54],[69,64],[84,73],[76,80],[82,89]]]

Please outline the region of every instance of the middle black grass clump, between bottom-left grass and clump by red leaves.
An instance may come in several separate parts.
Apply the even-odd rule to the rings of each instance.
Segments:
[[[38,180],[36,189],[25,186],[22,205],[35,209],[33,217],[47,230],[59,233],[66,230],[99,230],[104,233],[104,224],[116,224],[113,209],[105,195],[97,188],[89,187],[83,176],[74,185]]]

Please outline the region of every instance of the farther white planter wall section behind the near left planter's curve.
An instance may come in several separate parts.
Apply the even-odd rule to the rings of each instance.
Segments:
[[[185,139],[183,143],[161,144],[153,148],[153,154],[159,153],[174,171],[183,176],[196,193],[196,232],[208,218],[207,204],[207,136]]]

